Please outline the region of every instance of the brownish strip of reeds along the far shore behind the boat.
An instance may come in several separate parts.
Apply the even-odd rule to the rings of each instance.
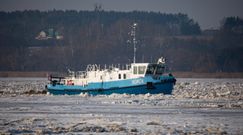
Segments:
[[[48,77],[54,72],[48,71],[0,71],[0,77]],[[243,78],[243,72],[217,72],[217,73],[196,73],[196,72],[172,72],[176,78]]]

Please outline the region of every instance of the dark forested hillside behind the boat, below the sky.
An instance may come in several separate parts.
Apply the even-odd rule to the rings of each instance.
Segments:
[[[225,18],[211,35],[180,13],[30,10],[0,12],[0,20],[1,71],[66,71],[94,63],[130,63],[133,46],[127,40],[134,22],[138,62],[165,56],[173,71],[243,71],[243,24],[238,17]],[[63,38],[54,38],[56,33]]]

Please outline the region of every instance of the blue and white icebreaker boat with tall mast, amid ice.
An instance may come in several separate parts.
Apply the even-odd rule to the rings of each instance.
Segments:
[[[134,45],[133,63],[109,66],[101,69],[98,65],[88,65],[85,71],[69,70],[66,77],[49,76],[48,92],[53,95],[98,94],[171,94],[176,83],[171,73],[166,73],[165,58],[157,63],[136,63],[136,26],[132,26],[131,36]]]

